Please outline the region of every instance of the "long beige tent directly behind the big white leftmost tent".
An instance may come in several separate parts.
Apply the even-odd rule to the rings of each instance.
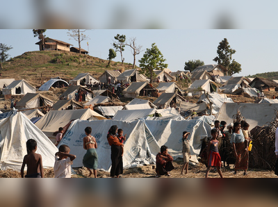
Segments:
[[[106,117],[101,116],[99,113],[87,109],[78,109],[78,110],[49,110],[49,112],[44,115],[35,123],[35,126],[47,135],[49,138],[55,138],[53,133],[58,131],[59,127],[66,126],[70,121],[74,119],[106,119]]]

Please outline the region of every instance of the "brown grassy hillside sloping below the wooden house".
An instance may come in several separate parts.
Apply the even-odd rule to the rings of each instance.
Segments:
[[[28,51],[3,63],[1,78],[25,79],[34,86],[42,85],[49,78],[60,76],[66,81],[79,73],[88,72],[99,78],[108,69],[108,60],[67,51]],[[131,69],[132,65],[111,61],[109,69]],[[42,77],[42,78],[41,78]]]

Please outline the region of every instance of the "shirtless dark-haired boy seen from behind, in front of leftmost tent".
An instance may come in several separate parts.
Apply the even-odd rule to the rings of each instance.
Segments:
[[[22,178],[24,177],[25,165],[27,165],[26,178],[43,178],[42,156],[35,153],[37,151],[37,142],[33,139],[27,140],[26,147],[27,154],[24,156],[21,169]]]

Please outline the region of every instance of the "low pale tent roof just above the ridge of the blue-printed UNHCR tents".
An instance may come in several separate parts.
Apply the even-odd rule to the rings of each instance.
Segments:
[[[138,110],[118,110],[113,119],[119,121],[132,122],[139,118],[153,115],[156,112],[154,108],[138,109]]]

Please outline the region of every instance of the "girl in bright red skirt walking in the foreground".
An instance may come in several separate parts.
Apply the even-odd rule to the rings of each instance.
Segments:
[[[208,142],[208,150],[207,150],[207,156],[208,156],[208,169],[206,170],[206,178],[208,177],[208,172],[210,172],[211,167],[216,167],[218,170],[218,174],[221,178],[222,172],[221,172],[221,158],[220,154],[218,152],[218,130],[212,129],[211,130],[212,139]]]

